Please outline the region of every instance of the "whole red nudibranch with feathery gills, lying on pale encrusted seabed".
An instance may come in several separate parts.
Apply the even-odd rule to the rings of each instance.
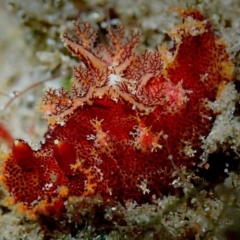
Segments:
[[[35,151],[16,140],[2,168],[15,202],[34,214],[57,214],[71,196],[125,203],[151,201],[171,188],[176,166],[191,169],[209,134],[219,87],[233,78],[223,40],[198,10],[181,10],[174,46],[135,54],[140,34],[118,26],[96,46],[88,23],[64,33],[82,60],[71,91],[46,91],[49,130]]]

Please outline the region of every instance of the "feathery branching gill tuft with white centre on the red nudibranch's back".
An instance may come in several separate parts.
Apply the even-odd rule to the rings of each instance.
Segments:
[[[132,30],[129,37],[125,35],[121,25],[116,29],[109,29],[108,47],[94,47],[96,34],[88,23],[76,23],[75,33],[71,37],[68,34],[62,35],[66,47],[85,65],[73,69],[73,109],[93,96],[101,97],[104,94],[115,99],[120,96],[132,103],[134,108],[144,111],[151,111],[151,107],[157,104],[173,101],[171,96],[166,99],[167,88],[171,84],[166,79],[159,78],[163,70],[160,52],[145,51],[135,56],[140,33]],[[185,99],[182,94],[184,91],[179,92],[179,98]],[[78,99],[79,104],[76,104]]]

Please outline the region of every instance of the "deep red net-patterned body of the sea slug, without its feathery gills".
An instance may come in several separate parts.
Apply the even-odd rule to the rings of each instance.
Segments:
[[[184,18],[188,16],[203,20],[198,11],[183,13]],[[51,199],[56,198],[59,206],[61,199],[69,196],[100,194],[105,199],[145,203],[151,201],[153,195],[160,197],[169,192],[174,171],[169,155],[178,167],[184,165],[189,169],[198,161],[201,138],[208,135],[214,120],[205,102],[215,100],[218,86],[231,80],[222,70],[222,63],[230,64],[225,45],[219,43],[209,23],[206,31],[196,36],[184,33],[181,26],[179,29],[183,30],[179,33],[182,42],[179,46],[175,42],[169,50],[176,53],[174,61],[143,86],[142,91],[152,94],[151,98],[163,89],[163,104],[149,104],[152,112],[133,110],[132,102],[121,96],[112,99],[106,92],[101,97],[92,97],[91,104],[84,103],[64,116],[64,126],[51,126],[45,143],[38,151],[32,151],[31,158],[22,157],[21,149],[28,149],[26,143],[20,141],[22,147],[14,146],[4,163],[3,178],[16,202],[23,202],[31,209],[43,199],[50,204]],[[122,76],[126,79],[133,74],[138,64],[136,59],[133,57],[124,69]],[[200,76],[206,73],[207,80],[201,81]],[[184,93],[175,88],[180,82],[181,89],[186,90]],[[123,84],[120,89],[123,91],[124,87]],[[188,100],[181,101],[184,96]],[[141,97],[132,97],[141,103]],[[94,125],[94,120],[100,127],[96,127],[96,122]],[[145,130],[147,134],[140,136]],[[167,139],[164,136],[168,136]],[[194,151],[193,156],[184,153],[186,145]],[[23,163],[19,164],[22,158]],[[71,165],[77,160],[81,166],[76,165],[74,170]],[[25,167],[25,162],[31,162],[30,167]],[[67,187],[66,195],[59,195],[60,186]],[[46,204],[46,208],[51,207]]]

